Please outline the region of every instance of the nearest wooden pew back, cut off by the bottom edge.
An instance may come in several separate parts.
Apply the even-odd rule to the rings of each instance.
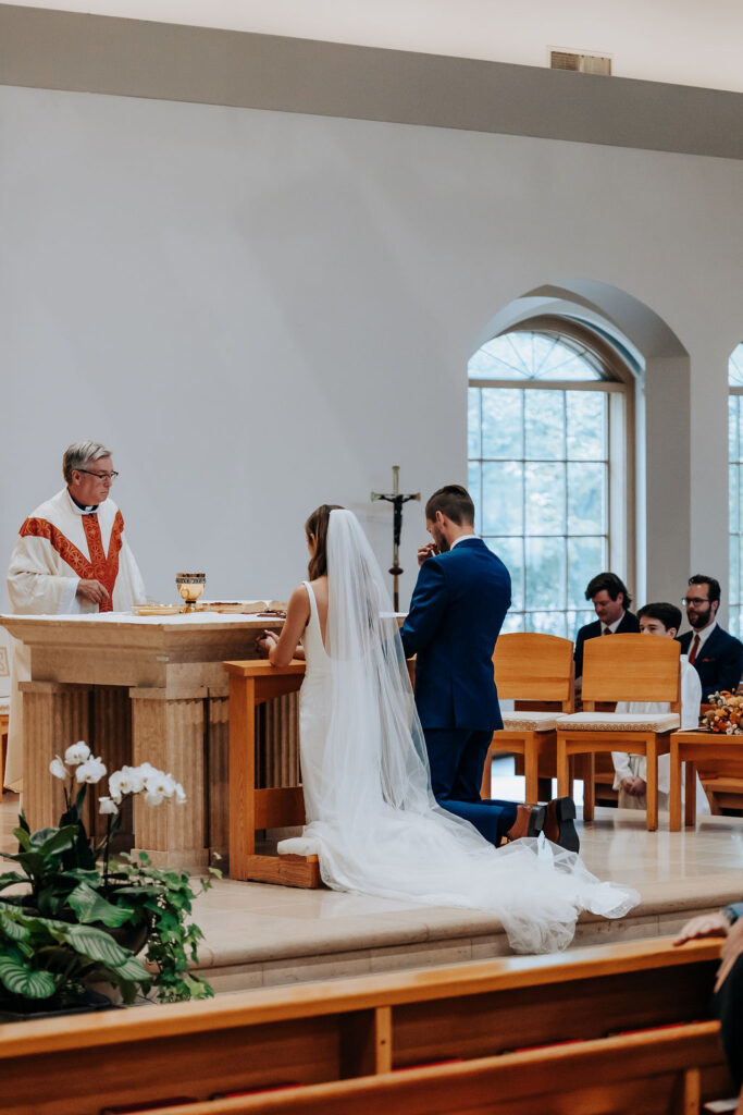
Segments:
[[[706,1021],[143,1115],[698,1115],[729,1092]]]

